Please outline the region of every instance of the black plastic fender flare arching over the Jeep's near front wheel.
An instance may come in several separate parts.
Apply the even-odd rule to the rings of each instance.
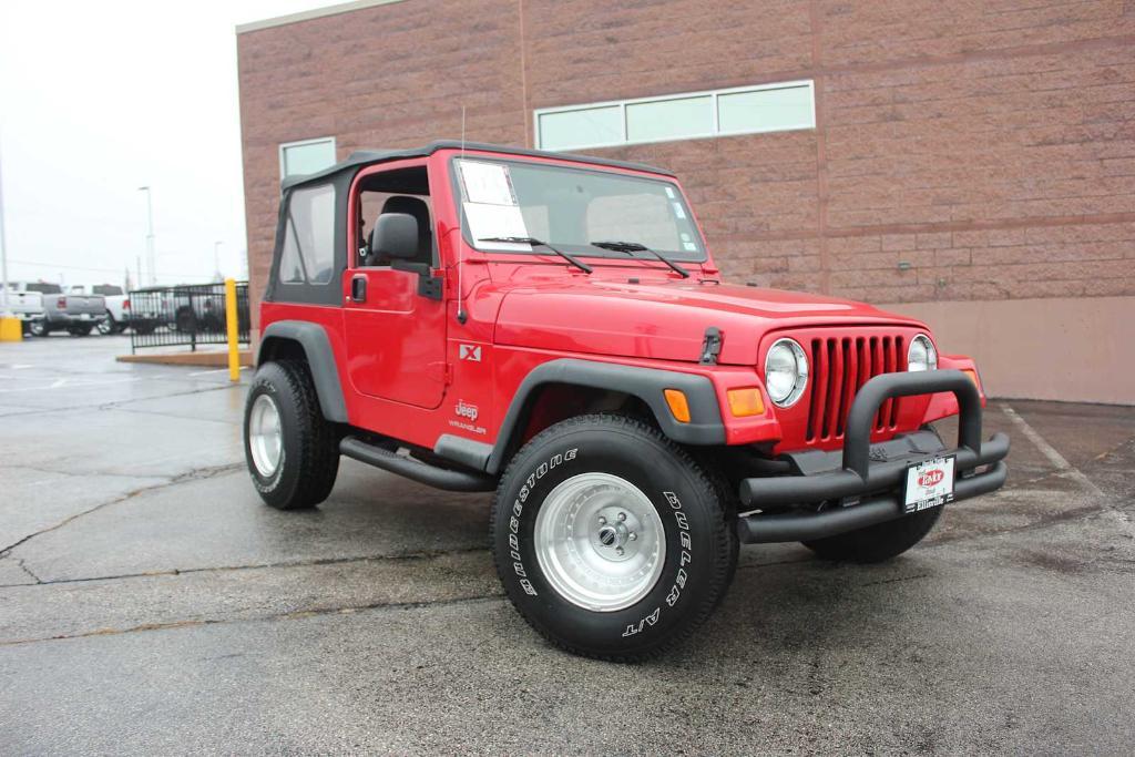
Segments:
[[[622,392],[641,399],[654,413],[663,434],[680,444],[725,444],[725,424],[713,382],[705,376],[657,368],[605,363],[575,358],[561,358],[540,363],[524,377],[505,413],[497,440],[493,445],[449,434],[442,436],[434,452],[470,468],[496,474],[505,465],[505,455],[522,434],[522,421],[536,399],[537,389],[548,384],[565,384],[595,389]],[[663,395],[664,389],[680,389],[690,407],[690,421],[674,419]]]

